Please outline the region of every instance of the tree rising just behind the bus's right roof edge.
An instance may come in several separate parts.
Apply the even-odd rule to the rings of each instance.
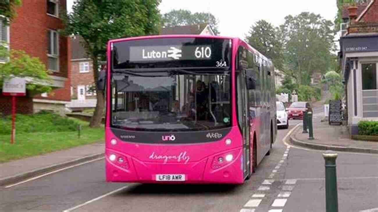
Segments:
[[[251,26],[245,40],[261,54],[270,58],[278,70],[282,70],[282,43],[278,31],[279,28],[274,28],[265,20],[259,20]]]

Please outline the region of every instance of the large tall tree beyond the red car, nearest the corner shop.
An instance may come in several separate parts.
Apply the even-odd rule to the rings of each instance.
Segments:
[[[286,65],[283,72],[291,74],[299,84],[308,85],[314,71],[328,71],[332,60],[332,26],[330,20],[314,13],[286,16],[280,26]]]

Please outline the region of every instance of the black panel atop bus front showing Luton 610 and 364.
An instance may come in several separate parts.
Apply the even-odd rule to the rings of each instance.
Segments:
[[[231,40],[155,38],[113,43],[112,69],[231,67]]]

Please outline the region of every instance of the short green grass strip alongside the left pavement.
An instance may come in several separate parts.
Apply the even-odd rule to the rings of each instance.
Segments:
[[[14,144],[11,135],[0,135],[0,163],[104,141],[103,126],[90,128],[88,122],[69,119],[82,125],[80,138],[77,131],[17,133],[17,125]]]

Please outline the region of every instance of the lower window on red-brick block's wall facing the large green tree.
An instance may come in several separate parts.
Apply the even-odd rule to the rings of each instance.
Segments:
[[[47,30],[47,57],[48,69],[59,71],[59,33],[51,29]]]

